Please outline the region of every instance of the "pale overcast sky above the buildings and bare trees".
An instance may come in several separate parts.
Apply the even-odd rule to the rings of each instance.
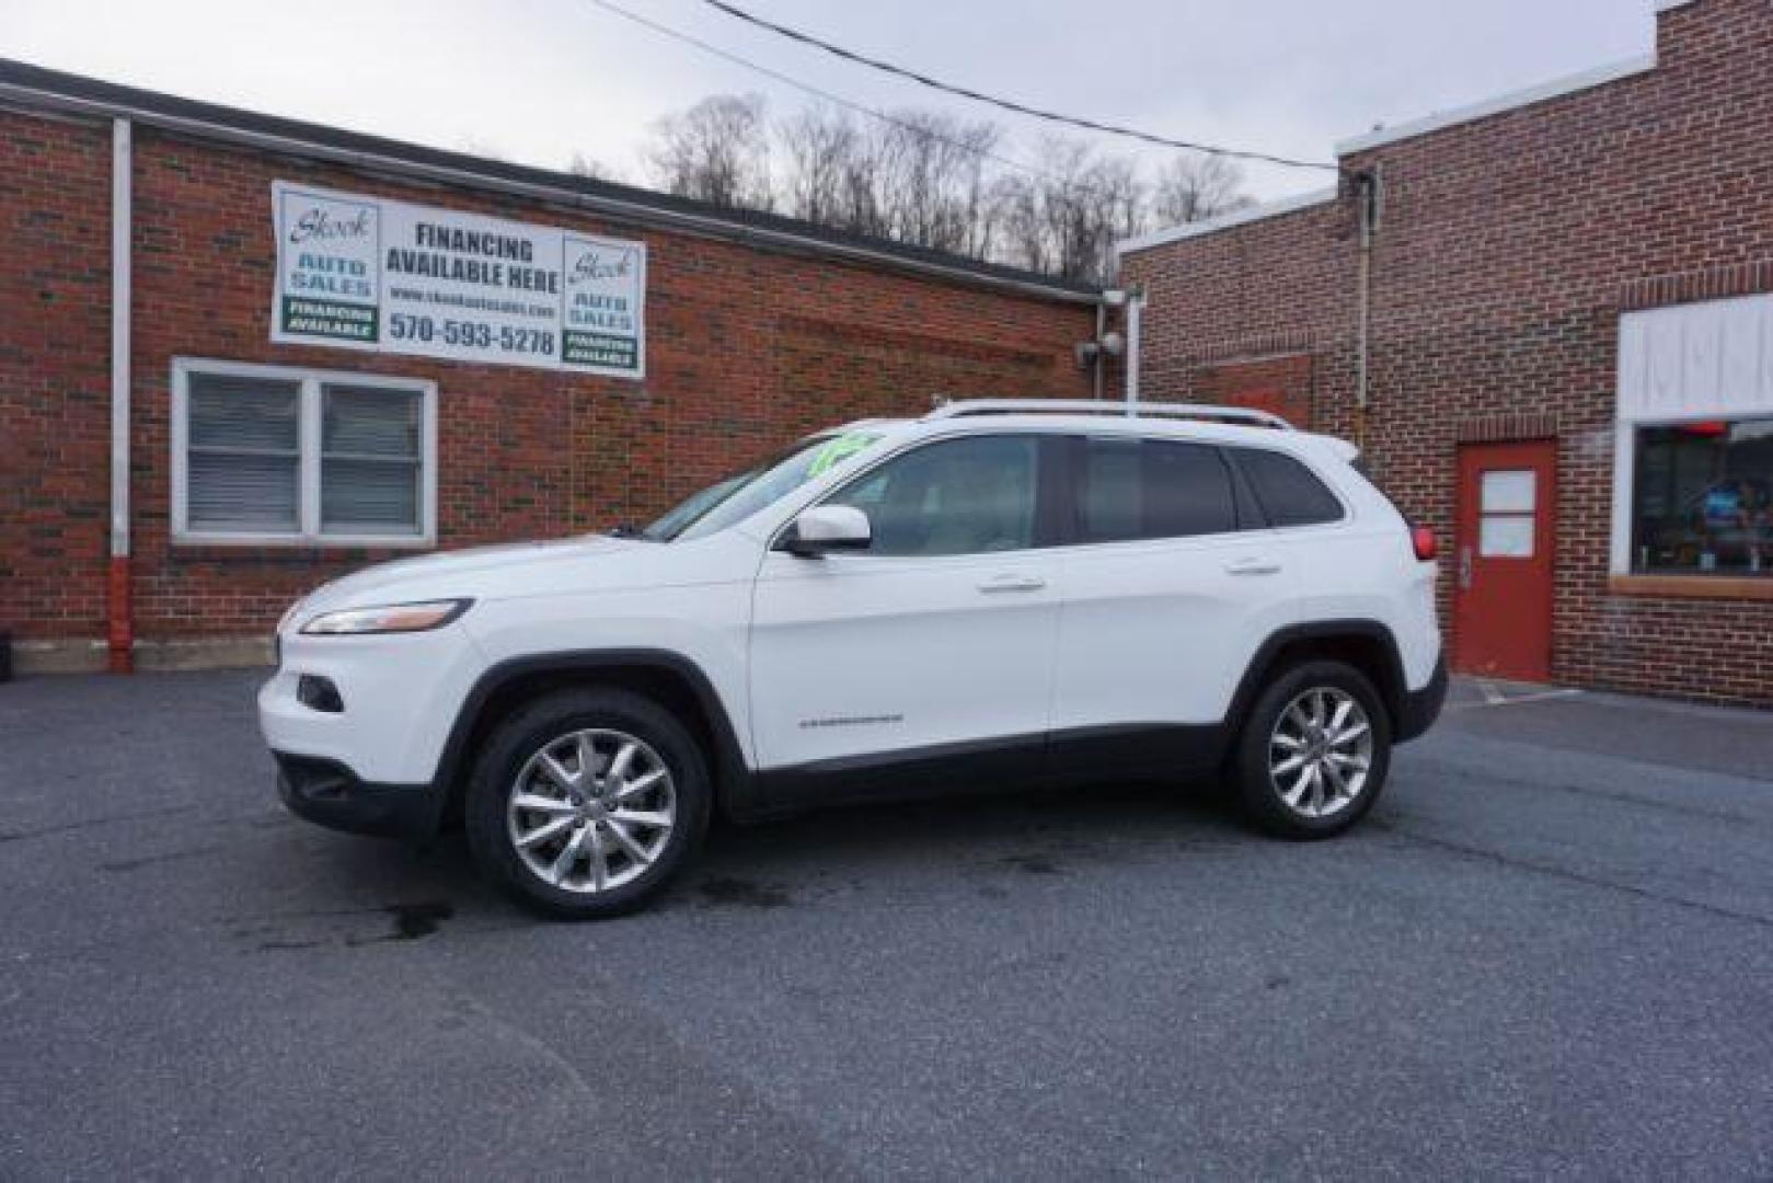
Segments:
[[[613,0],[869,106],[1043,128],[780,41],[702,0]],[[1339,138],[1649,53],[1654,0],[738,0],[938,78],[1152,131],[1328,160]],[[0,55],[188,98],[644,181],[661,114],[805,96],[592,0],[0,0]],[[1105,149],[1121,142],[1092,137]],[[1280,197],[1323,174],[1255,168]]]

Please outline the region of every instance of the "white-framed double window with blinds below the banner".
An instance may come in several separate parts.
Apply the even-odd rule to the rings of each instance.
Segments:
[[[433,383],[181,358],[172,385],[179,541],[434,539]]]

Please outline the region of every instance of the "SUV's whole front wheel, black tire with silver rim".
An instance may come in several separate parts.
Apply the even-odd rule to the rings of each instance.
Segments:
[[[690,731],[626,690],[562,690],[488,738],[468,784],[475,864],[528,908],[633,912],[700,846],[713,805]]]

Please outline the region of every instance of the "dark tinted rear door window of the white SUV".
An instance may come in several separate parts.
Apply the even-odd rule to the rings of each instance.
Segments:
[[[1230,470],[1216,447],[1090,436],[1078,442],[1080,543],[1227,534],[1238,529]]]

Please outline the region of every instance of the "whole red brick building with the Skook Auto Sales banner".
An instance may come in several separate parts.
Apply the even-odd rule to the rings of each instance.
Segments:
[[[25,669],[254,658],[365,562],[645,521],[812,427],[1094,378],[1085,286],[7,62],[0,234]]]

